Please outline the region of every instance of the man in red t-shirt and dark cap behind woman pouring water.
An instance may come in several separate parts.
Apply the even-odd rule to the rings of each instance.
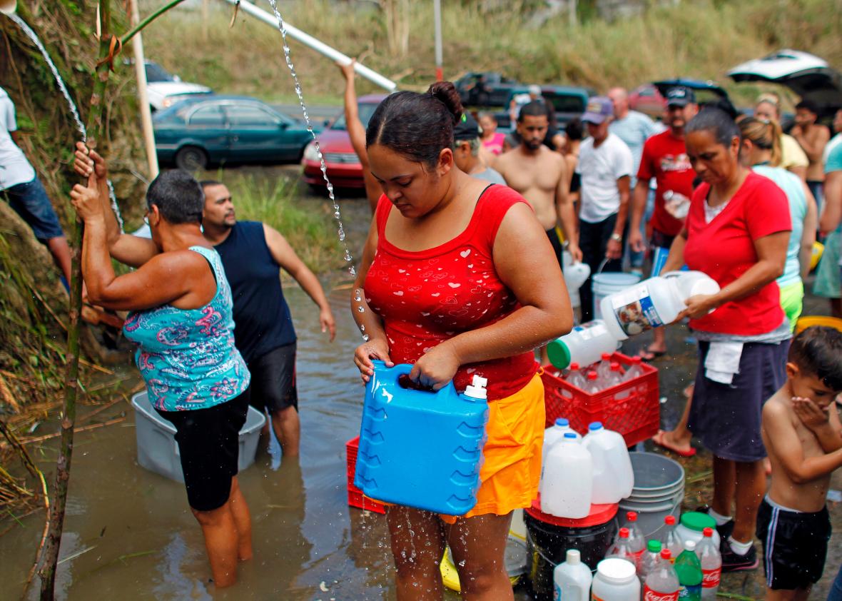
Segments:
[[[652,136],[643,145],[640,168],[637,170],[637,185],[632,199],[629,246],[636,253],[641,253],[646,248],[640,232],[640,222],[646,209],[649,180],[655,178],[658,186],[655,193],[655,210],[647,227],[647,230],[652,232],[653,276],[661,273],[663,263],[669,255],[669,247],[681,231],[690,209],[695,172],[687,157],[684,128],[698,112],[699,105],[695,103],[693,90],[682,86],[670,89],[664,114],[664,123],[669,126],[669,130]],[[663,327],[656,327],[653,330],[652,344],[643,348],[640,356],[648,361],[666,352],[667,342]]]

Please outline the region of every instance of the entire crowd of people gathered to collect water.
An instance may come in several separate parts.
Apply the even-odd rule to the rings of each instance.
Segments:
[[[769,598],[807,598],[829,539],[829,475],[842,465],[842,333],[793,332],[817,231],[826,245],[821,290],[837,316],[842,298],[842,110],[831,139],[818,107],[802,101],[787,136],[770,94],[753,116],[735,115],[700,108],[692,89],[677,86],[656,122],[613,88],[559,130],[538,88],[504,136],[492,115],[474,116],[450,82],[437,82],[393,93],[363,126],[353,66],[342,70],[372,209],[350,301],[365,340],[354,353],[361,379],[380,359],[413,364],[409,377],[434,390],[451,380],[464,389],[474,373],[489,382],[477,505],[458,517],[386,509],[398,598],[440,598],[445,545],[464,598],[511,598],[509,524],[536,497],[541,474],[541,348],[574,322],[565,252],[592,274],[687,266],[717,281],[720,292],[691,297],[679,316],[698,340],[695,382],[678,427],[654,442],[690,455],[695,437],[711,451],[714,491],[702,510],[722,535],[723,570],[759,566],[757,535]],[[14,144],[2,90],[0,120],[3,195],[64,269],[67,243]],[[268,413],[285,457],[299,453],[296,333],[280,269],[311,296],[331,339],[333,313],[279,231],[237,221],[224,183],[161,173],[147,190],[152,237],[142,238],[117,225],[104,158],[79,143],[74,166],[88,179],[71,193],[85,223],[86,298],[130,311],[125,336],[153,406],[176,428],[189,507],[214,582],[228,586],[252,556],[237,483],[249,404]],[[111,258],[136,270],[118,276]],[[587,322],[589,281],[580,298]],[[663,329],[655,332],[638,351],[644,360],[668,352]]]

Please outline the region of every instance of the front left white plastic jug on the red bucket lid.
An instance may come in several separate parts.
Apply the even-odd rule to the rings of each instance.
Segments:
[[[572,432],[552,445],[544,458],[541,511],[558,518],[582,519],[590,513],[593,460]]]

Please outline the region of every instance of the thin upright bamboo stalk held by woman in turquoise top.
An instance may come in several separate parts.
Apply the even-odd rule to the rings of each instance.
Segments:
[[[93,82],[90,109],[88,109],[88,146],[96,148],[104,132],[103,105],[105,87],[109,78],[111,49],[111,2],[99,0],[99,61]],[[119,48],[116,49],[119,51]],[[61,442],[56,460],[56,481],[53,484],[47,536],[40,553],[38,575],[41,579],[41,601],[52,601],[56,587],[61,531],[64,527],[64,510],[67,504],[67,485],[73,455],[73,424],[76,421],[76,398],[79,379],[79,314],[82,307],[82,238],[83,223],[77,216],[72,231],[72,268],[70,291],[70,322],[67,328],[67,358],[64,382],[64,408],[61,414]]]

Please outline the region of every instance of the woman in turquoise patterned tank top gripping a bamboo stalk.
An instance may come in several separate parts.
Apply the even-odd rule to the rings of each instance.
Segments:
[[[92,160],[93,159],[93,160]],[[85,223],[82,272],[95,305],[131,311],[125,335],[157,411],[176,428],[190,508],[205,535],[217,587],[252,556],[251,519],[237,485],[238,433],[248,411],[248,369],[234,346],[231,290],[200,231],[205,202],[188,173],[161,173],[147,191],[152,240],[120,234],[105,163],[79,146],[88,186],[71,197]],[[117,277],[110,255],[138,267]]]

